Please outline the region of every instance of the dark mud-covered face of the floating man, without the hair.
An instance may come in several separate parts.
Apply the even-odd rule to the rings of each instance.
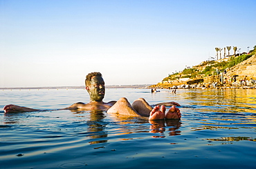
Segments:
[[[102,101],[105,95],[105,83],[102,77],[95,76],[91,78],[91,85],[86,86],[91,101]]]

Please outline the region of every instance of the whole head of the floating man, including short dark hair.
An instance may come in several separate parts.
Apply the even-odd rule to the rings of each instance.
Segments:
[[[89,92],[91,101],[102,101],[105,95],[105,83],[100,72],[86,75],[85,88]]]

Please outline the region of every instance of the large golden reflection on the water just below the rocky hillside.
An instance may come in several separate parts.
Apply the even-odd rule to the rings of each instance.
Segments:
[[[190,90],[184,98],[191,105],[206,106],[202,112],[256,112],[255,90],[203,90],[201,94]]]

